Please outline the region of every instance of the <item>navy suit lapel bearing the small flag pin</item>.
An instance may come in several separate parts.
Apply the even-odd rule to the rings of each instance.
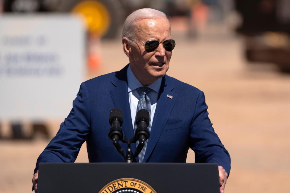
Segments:
[[[168,80],[167,75],[165,75],[161,83],[159,98],[157,100],[153,123],[151,126],[150,138],[148,139],[147,149],[144,156],[144,160],[146,161],[156,146],[168,120],[172,107],[176,101],[177,94],[172,92],[173,89],[173,85]],[[168,94],[171,95],[172,98],[167,97]]]

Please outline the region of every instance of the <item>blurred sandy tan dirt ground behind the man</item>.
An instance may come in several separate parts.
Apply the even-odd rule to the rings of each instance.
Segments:
[[[290,192],[290,74],[247,64],[242,38],[223,28],[212,26],[192,40],[172,30],[177,44],[167,74],[205,93],[214,129],[232,159],[225,192]],[[102,65],[86,79],[128,63],[121,40],[102,41],[100,48]],[[60,122],[48,122],[52,135]],[[0,192],[31,191],[35,162],[47,143],[0,141]],[[88,162],[85,145],[76,161]],[[187,161],[194,162],[192,151]]]

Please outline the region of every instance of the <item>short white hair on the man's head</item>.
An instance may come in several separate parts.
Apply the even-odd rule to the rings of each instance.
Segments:
[[[168,23],[169,20],[165,13],[158,11],[156,9],[151,8],[143,8],[138,9],[136,11],[133,11],[125,20],[123,32],[122,32],[122,38],[123,37],[129,37],[132,39],[135,39],[135,28],[136,28],[136,22],[142,19],[156,19],[156,18],[165,18]],[[129,40],[129,42],[131,42]]]

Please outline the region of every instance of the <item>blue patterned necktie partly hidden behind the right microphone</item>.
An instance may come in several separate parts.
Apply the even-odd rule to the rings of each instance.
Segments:
[[[147,128],[150,132],[150,130],[151,130],[151,101],[150,101],[149,97],[147,96],[147,94],[150,93],[150,91],[152,89],[149,87],[139,87],[136,90],[137,90],[138,94],[140,95],[140,99],[139,99],[139,102],[137,105],[137,112],[140,109],[146,109],[149,112],[150,120],[149,120],[149,125]],[[137,115],[137,112],[136,112],[136,115]],[[137,124],[136,124],[136,120],[135,120],[135,122],[134,122],[134,134],[135,134],[136,129],[137,129]],[[145,151],[147,148],[147,141],[148,140],[145,141],[144,147],[143,147],[142,151],[140,152],[140,154],[138,155],[140,163],[142,163],[143,159],[144,159]],[[139,144],[139,141],[136,142],[136,147],[138,146],[138,144]]]

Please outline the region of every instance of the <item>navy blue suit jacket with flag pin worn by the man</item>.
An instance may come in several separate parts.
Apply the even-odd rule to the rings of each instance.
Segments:
[[[85,141],[89,162],[124,162],[108,138],[111,127],[108,120],[111,109],[121,109],[124,135],[126,138],[134,135],[127,67],[81,84],[71,112],[38,157],[34,173],[40,162],[74,162]],[[144,160],[185,162],[191,148],[195,151],[196,163],[218,163],[229,174],[230,156],[211,126],[207,108],[202,91],[165,75]],[[127,149],[124,144],[122,147]],[[134,152],[136,146],[131,147]]]

